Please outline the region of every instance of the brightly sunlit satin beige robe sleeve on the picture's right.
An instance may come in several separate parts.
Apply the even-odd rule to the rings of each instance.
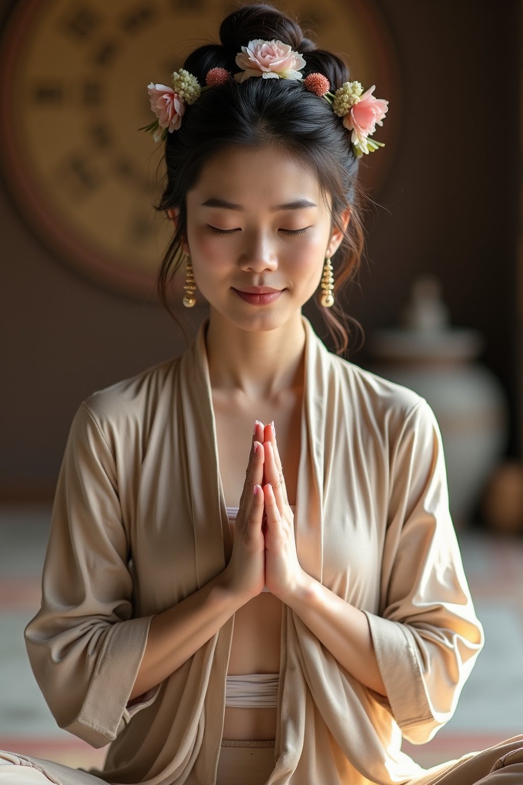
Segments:
[[[425,400],[405,418],[390,458],[381,607],[365,613],[385,705],[403,736],[422,744],[452,717],[483,630],[449,513],[440,429]]]

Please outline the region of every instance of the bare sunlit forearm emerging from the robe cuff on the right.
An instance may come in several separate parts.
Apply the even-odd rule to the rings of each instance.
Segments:
[[[365,613],[307,573],[296,592],[284,601],[345,670],[365,687],[387,694]]]

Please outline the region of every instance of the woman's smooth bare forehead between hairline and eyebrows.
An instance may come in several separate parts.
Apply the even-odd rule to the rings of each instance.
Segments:
[[[229,147],[213,155],[202,168],[194,191],[248,195],[260,200],[285,203],[297,196],[319,205],[321,188],[318,176],[306,160],[298,159],[277,147]],[[289,199],[287,199],[289,197]],[[231,199],[232,200],[232,199]]]

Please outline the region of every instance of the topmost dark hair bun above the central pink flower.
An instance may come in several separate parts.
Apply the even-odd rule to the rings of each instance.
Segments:
[[[299,24],[281,13],[272,5],[255,3],[243,5],[220,25],[220,41],[229,51],[240,52],[249,41],[261,38],[263,41],[281,41],[300,52],[311,51],[314,44],[303,37]],[[307,48],[304,49],[303,46]]]

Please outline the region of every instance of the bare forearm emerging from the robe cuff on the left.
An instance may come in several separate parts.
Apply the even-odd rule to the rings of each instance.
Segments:
[[[129,700],[143,695],[173,674],[245,604],[216,575],[202,589],[154,616]]]

